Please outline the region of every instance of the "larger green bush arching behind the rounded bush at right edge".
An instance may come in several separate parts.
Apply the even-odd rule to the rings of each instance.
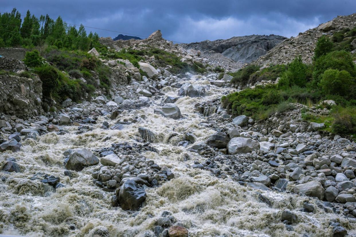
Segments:
[[[323,74],[326,69],[345,70],[349,72],[352,77],[356,76],[355,63],[352,60],[351,54],[346,51],[333,51],[321,56],[315,61],[313,72],[314,85],[320,82],[321,74]]]

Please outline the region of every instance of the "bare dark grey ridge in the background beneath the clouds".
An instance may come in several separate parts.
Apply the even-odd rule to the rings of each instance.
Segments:
[[[215,56],[221,54],[235,62],[249,63],[261,55],[265,55],[278,43],[286,40],[279,35],[249,35],[232,37],[227,40],[205,40],[189,43],[184,46],[187,50],[200,50],[203,55]]]

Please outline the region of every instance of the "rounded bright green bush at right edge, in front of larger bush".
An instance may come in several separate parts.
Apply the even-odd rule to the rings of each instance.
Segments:
[[[327,69],[321,75],[319,85],[325,95],[338,94],[341,96],[354,94],[354,87],[356,86],[349,72],[337,69]]]

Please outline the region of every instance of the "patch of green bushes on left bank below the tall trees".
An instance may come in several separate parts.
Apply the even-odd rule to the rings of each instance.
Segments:
[[[110,69],[91,55],[83,51],[58,50],[51,46],[45,50],[45,56],[50,64],[43,64],[44,59],[38,51],[27,52],[25,57],[26,65],[34,68],[42,81],[45,99],[53,98],[61,102],[70,98],[77,102],[85,93],[91,93],[98,87],[109,89]],[[98,73],[100,85],[94,73]],[[82,77],[86,83],[79,79]]]

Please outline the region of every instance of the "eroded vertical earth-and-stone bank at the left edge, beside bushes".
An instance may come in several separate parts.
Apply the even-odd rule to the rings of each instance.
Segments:
[[[43,113],[42,82],[10,75],[0,76],[0,113],[28,118]]]

